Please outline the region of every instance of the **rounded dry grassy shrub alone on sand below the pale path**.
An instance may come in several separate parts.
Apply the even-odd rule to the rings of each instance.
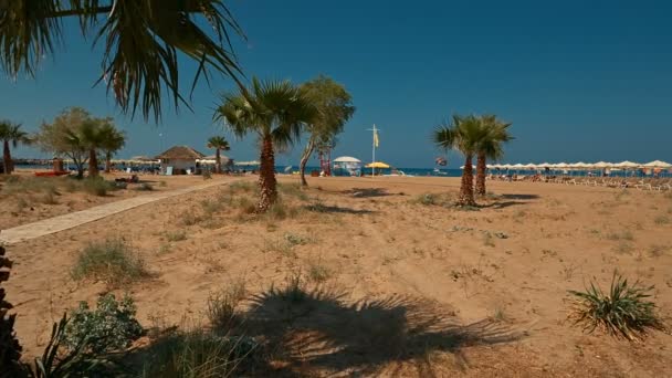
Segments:
[[[88,244],[72,270],[75,280],[99,280],[113,286],[139,280],[146,274],[144,261],[123,239]]]

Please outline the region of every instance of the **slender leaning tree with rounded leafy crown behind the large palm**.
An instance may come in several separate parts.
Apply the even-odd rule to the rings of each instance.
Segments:
[[[345,123],[355,113],[355,106],[345,87],[327,76],[319,75],[302,84],[301,92],[317,108],[317,116],[306,125],[309,136],[298,166],[301,185],[307,187],[305,171],[313,151],[316,148],[329,149],[334,146],[336,135],[343,132]]]

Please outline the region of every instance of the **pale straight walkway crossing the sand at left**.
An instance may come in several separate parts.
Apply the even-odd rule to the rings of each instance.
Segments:
[[[44,219],[38,222],[18,225],[0,232],[0,243],[14,244],[27,240],[52,234],[59,231],[72,229],[74,227],[96,221],[98,219],[116,214],[122,211],[137,208],[143,204],[156,202],[166,198],[186,195],[192,191],[202,190],[231,181],[209,181],[202,185],[180,188],[171,191],[157,192],[140,197],[134,197],[116,202],[101,204],[82,211]]]

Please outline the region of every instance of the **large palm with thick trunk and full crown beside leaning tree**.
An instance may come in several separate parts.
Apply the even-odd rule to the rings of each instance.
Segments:
[[[214,120],[222,122],[238,137],[253,133],[260,140],[259,212],[265,212],[277,199],[275,149],[291,147],[316,113],[288,81],[260,82],[254,77],[250,88],[241,87],[238,93],[222,96]]]

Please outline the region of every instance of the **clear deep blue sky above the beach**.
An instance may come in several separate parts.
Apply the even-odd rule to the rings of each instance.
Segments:
[[[432,128],[453,113],[494,113],[516,139],[505,161],[672,160],[672,3],[666,1],[251,1],[229,4],[248,34],[235,49],[248,77],[300,83],[324,73],[353,94],[357,112],[335,156],[431,167]],[[67,45],[36,80],[0,80],[0,118],[34,130],[66,106],[115,116],[128,133],[122,156],[154,155],[206,139],[218,93],[201,82],[193,113],[168,106],[161,125],[119,114],[99,75],[99,49],[66,23]],[[189,91],[193,64],[180,74]],[[164,136],[159,138],[159,134]],[[228,134],[225,134],[228,135]],[[256,158],[252,139],[230,155]],[[277,158],[296,164],[301,146]],[[19,156],[36,156],[21,148]],[[461,165],[450,154],[451,168]]]

